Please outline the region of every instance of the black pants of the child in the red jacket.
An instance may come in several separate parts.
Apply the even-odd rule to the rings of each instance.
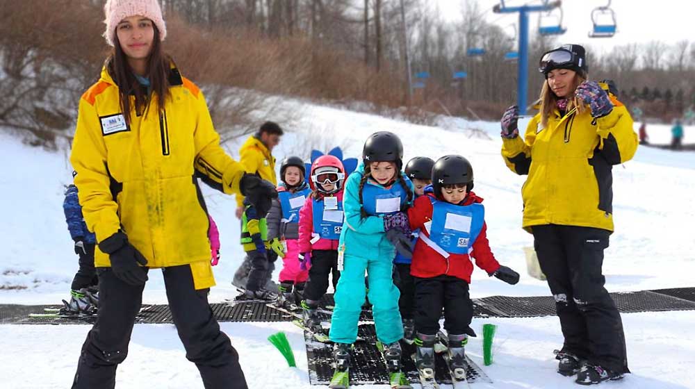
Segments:
[[[439,318],[444,308],[444,329],[452,335],[467,333],[471,329],[473,301],[468,296],[468,283],[454,276],[436,276],[415,279],[415,329],[424,335],[436,335]]]

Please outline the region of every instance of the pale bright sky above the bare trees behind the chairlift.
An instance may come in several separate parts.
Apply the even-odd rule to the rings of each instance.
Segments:
[[[439,4],[441,14],[449,20],[461,19],[461,4],[463,0],[430,0]],[[518,14],[496,14],[492,7],[500,3],[498,0],[478,0],[480,10],[485,11],[488,22],[499,26],[518,25]],[[539,4],[540,0],[507,0],[507,6],[521,6],[524,3]],[[694,0],[613,0],[611,8],[616,13],[618,33],[613,38],[590,39],[587,33],[591,30],[591,10],[603,6],[603,0],[564,0],[562,8],[564,19],[562,24],[567,32],[558,37],[562,43],[584,43],[592,47],[600,47],[609,51],[616,44],[646,43],[651,40],[661,40],[673,44],[678,40],[695,42],[695,1]],[[505,15],[505,16],[502,16]],[[538,28],[538,19],[532,15],[530,28]],[[509,31],[514,31],[512,27]]]

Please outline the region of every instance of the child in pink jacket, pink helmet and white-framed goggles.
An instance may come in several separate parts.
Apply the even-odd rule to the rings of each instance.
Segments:
[[[309,329],[320,327],[318,303],[328,290],[328,276],[333,288],[338,284],[338,240],[343,229],[343,183],[345,168],[338,158],[325,155],[311,165],[313,192],[300,211],[299,259],[309,267],[309,281],[304,288],[302,314]]]

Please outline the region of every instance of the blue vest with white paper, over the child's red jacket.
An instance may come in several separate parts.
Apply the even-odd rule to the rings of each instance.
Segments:
[[[459,206],[429,197],[433,208],[430,240],[449,254],[468,254],[482,230],[484,206],[480,203]]]

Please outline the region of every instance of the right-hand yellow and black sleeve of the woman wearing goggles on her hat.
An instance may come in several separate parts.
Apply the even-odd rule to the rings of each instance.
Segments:
[[[637,151],[637,133],[632,128],[632,117],[628,109],[613,99],[615,105],[610,114],[596,119],[596,133],[600,137],[598,149],[613,165],[624,163]]]

